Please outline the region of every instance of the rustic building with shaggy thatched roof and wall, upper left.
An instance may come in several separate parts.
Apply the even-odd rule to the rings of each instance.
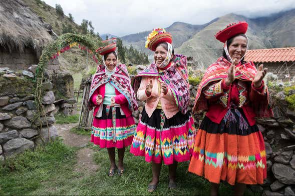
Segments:
[[[37,64],[52,27],[21,0],[0,1],[0,67],[28,69]]]

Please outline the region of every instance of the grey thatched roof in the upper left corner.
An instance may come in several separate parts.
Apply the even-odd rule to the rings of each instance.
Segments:
[[[39,57],[51,39],[42,19],[21,0],[0,0],[0,46],[10,52],[31,47]]]

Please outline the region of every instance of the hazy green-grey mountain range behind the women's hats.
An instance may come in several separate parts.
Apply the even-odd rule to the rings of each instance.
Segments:
[[[248,49],[295,46],[295,9],[257,18],[230,13],[202,25],[174,22],[165,29],[172,33],[176,53],[192,56],[200,65],[207,66],[222,54],[223,43],[215,39],[215,33],[237,21],[249,24],[246,33]],[[151,30],[123,36],[123,44],[132,44],[134,48],[151,54],[144,48],[149,32]]]

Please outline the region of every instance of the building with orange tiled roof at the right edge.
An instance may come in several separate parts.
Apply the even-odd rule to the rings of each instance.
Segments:
[[[295,47],[250,49],[245,54],[246,61],[253,61],[256,65],[263,64],[284,81],[295,76]]]

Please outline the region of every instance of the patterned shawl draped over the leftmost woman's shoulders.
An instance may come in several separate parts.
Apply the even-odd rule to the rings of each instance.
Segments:
[[[95,106],[91,101],[93,92],[102,84],[110,81],[115,89],[122,93],[128,101],[128,107],[130,110],[136,110],[138,108],[136,97],[130,83],[130,77],[125,64],[118,64],[117,70],[112,75],[107,75],[104,69],[104,65],[98,65],[95,75],[93,76],[89,98],[88,107],[92,110]]]

